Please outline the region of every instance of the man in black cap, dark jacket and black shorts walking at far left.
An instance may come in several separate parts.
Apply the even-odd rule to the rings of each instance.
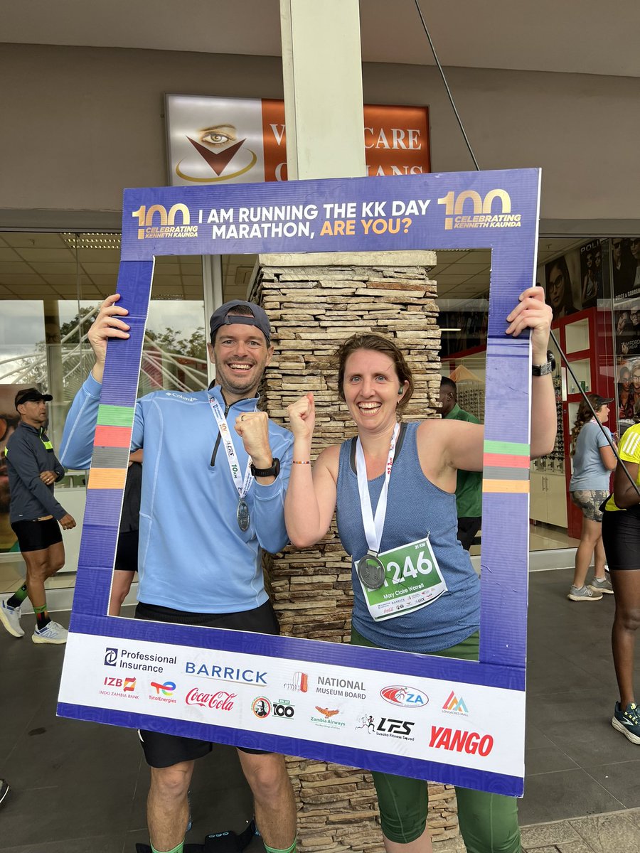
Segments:
[[[29,597],[36,614],[32,641],[60,645],[67,629],[49,618],[44,581],[65,564],[60,526],[71,530],[76,523],[54,497],[54,483],[65,469],[55,458],[44,432],[50,394],[24,388],[15,395],[20,423],[4,449],[9,477],[9,519],[26,562],[26,583],[7,600],[0,601],[0,621],[15,637],[20,628],[20,606]]]

